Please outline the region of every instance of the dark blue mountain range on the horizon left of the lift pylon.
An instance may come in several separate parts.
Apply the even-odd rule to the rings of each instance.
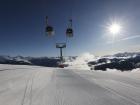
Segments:
[[[60,60],[57,57],[23,57],[0,56],[0,64],[37,65],[57,67]]]

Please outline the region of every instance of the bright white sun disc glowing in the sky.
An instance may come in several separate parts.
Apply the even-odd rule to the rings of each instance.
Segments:
[[[116,35],[121,31],[121,25],[118,23],[112,23],[109,25],[108,30],[111,34]]]

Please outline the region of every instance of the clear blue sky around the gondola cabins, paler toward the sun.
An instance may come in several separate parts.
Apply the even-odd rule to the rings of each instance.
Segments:
[[[74,37],[68,39],[65,56],[139,51],[139,5],[140,0],[1,0],[0,55],[58,56],[55,43],[65,42],[71,17]],[[54,38],[45,36],[46,15]],[[109,43],[106,27],[112,21],[121,23],[123,31]]]

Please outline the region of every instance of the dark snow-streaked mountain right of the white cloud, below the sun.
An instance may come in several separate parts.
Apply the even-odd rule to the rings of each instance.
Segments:
[[[140,53],[118,53],[109,56],[103,56],[94,61],[88,62],[91,69],[103,70],[117,69],[121,71],[129,71],[140,68]]]

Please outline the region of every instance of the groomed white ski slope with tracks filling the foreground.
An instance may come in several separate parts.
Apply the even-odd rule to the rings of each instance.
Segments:
[[[0,105],[140,105],[140,72],[23,65],[0,69]]]

